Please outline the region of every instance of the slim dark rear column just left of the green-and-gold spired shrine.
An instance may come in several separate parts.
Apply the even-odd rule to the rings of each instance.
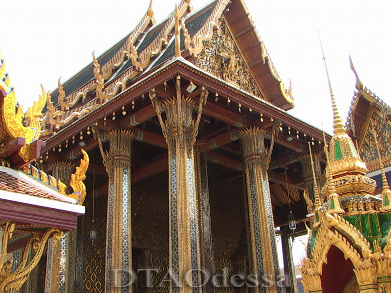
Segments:
[[[292,243],[288,231],[282,231],[282,258],[284,262],[286,293],[298,293],[295,264],[292,255]]]

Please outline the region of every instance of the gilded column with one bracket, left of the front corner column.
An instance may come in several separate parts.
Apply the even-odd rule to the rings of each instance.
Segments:
[[[106,133],[109,151],[102,146],[98,128],[93,127],[103,164],[109,174],[105,292],[132,292],[130,159],[133,132],[114,129]]]

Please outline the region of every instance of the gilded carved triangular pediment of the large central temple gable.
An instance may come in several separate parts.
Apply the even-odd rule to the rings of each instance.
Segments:
[[[202,51],[193,63],[223,81],[235,85],[256,97],[261,91],[252,76],[224,19],[218,21],[219,30],[211,40],[203,42]]]

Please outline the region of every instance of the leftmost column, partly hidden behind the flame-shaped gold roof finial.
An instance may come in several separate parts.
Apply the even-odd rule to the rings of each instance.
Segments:
[[[50,164],[53,176],[60,179],[68,188],[70,175],[75,169],[71,162],[54,162]],[[76,235],[72,230],[65,233],[60,240],[48,240],[45,272],[45,293],[73,293],[75,291]]]

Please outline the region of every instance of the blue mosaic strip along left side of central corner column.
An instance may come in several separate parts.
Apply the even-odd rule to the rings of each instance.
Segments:
[[[179,281],[179,249],[178,249],[178,203],[177,203],[177,194],[176,194],[176,160],[175,160],[175,151],[171,152],[170,156],[170,204],[171,204],[171,265],[173,278]],[[175,286],[173,282],[172,292],[178,293],[179,288]]]

